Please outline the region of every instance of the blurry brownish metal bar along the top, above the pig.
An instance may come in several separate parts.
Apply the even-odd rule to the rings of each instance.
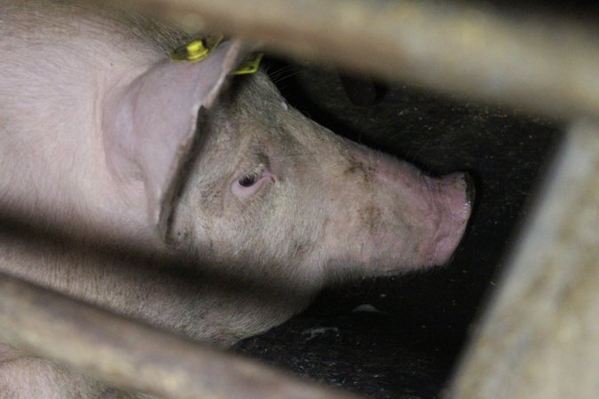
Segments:
[[[599,116],[596,26],[438,2],[107,1],[386,79],[551,116]]]

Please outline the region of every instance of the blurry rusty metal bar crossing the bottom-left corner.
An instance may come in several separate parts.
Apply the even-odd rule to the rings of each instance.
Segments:
[[[1,273],[0,340],[109,384],[164,398],[356,397]]]

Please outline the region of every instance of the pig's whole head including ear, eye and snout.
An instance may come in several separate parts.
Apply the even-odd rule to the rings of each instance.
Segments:
[[[164,61],[108,100],[108,163],[143,179],[148,220],[172,246],[311,286],[448,261],[470,213],[463,174],[424,176],[335,136],[264,74],[223,90],[239,59],[225,44],[197,64]]]

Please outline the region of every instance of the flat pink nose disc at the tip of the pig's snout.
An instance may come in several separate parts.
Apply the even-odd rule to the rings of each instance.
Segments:
[[[430,190],[435,192],[432,197],[437,202],[437,217],[433,220],[438,222],[430,226],[430,239],[423,239],[424,259],[428,264],[440,265],[450,261],[460,244],[474,203],[475,186],[471,176],[460,172],[430,180]]]

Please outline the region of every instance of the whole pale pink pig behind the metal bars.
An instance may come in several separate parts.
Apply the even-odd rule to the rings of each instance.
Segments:
[[[442,265],[463,173],[424,175],[288,106],[246,46],[63,0],[0,1],[0,271],[227,347],[346,278]],[[0,343],[0,396],[118,391]]]

